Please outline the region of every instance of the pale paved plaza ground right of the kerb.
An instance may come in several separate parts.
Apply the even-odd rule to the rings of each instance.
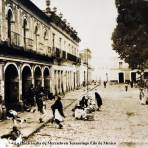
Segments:
[[[148,143],[148,106],[140,105],[137,88],[129,88],[125,92],[123,85],[112,85],[107,88],[99,86],[92,94],[95,91],[101,94],[103,106],[101,111],[95,112],[94,121],[75,120],[71,111],[73,103],[65,110],[63,129],[59,130],[48,123],[29,140],[53,142],[50,146],[55,146],[54,142],[65,142],[71,146],[78,144],[88,147]]]

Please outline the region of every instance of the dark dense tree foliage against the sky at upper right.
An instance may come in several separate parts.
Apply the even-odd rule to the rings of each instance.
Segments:
[[[118,17],[113,50],[132,69],[144,68],[148,60],[148,1],[115,0],[115,4]]]

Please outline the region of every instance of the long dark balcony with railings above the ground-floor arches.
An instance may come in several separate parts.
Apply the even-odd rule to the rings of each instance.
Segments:
[[[21,44],[21,41],[24,41],[23,44]],[[53,62],[53,57],[48,53],[49,47],[43,43],[38,43],[38,46],[38,50],[41,52],[33,50],[34,41],[32,39],[25,38],[24,40],[20,34],[11,32],[11,38],[0,43],[0,55],[21,59],[27,58],[34,61]]]

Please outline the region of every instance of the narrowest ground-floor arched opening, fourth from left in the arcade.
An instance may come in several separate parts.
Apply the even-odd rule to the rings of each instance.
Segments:
[[[48,68],[45,68],[44,70],[44,87],[50,92],[50,74]]]

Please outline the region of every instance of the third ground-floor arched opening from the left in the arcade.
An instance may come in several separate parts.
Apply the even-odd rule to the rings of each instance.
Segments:
[[[34,80],[35,80],[35,87],[41,86],[42,84],[42,72],[39,67],[37,67],[34,71]]]

